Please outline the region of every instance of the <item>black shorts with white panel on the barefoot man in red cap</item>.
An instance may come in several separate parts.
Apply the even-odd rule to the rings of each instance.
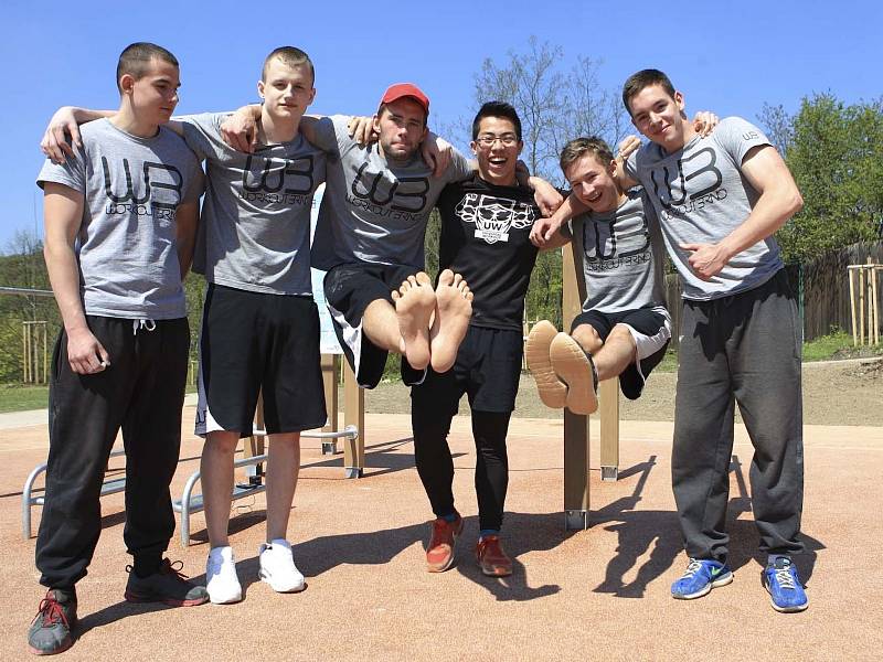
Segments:
[[[325,300],[334,322],[334,333],[363,388],[374,388],[380,383],[389,354],[364,334],[365,309],[377,299],[393,303],[392,291],[417,271],[416,267],[402,265],[359,263],[338,265],[325,276]],[[407,364],[404,356],[402,364]]]

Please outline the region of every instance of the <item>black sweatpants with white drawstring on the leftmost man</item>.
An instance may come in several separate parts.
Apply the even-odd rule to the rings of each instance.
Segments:
[[[52,357],[46,493],[36,540],[40,583],[47,587],[71,587],[86,575],[102,531],[100,487],[120,428],[129,554],[159,559],[174,533],[169,484],[181,447],[187,318],[140,323],[88,316],[87,322],[110,365],[93,375],[74,373],[64,331]]]

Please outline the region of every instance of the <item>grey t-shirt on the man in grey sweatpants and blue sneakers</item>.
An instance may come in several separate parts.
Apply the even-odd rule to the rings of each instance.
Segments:
[[[629,157],[626,173],[647,191],[678,268],[685,299],[709,300],[754,289],[783,267],[773,237],[736,255],[711,280],[696,277],[680,244],[714,244],[748,217],[759,193],[742,174],[742,160],[766,136],[741,117],[723,119],[708,138],[671,154],[650,142]]]

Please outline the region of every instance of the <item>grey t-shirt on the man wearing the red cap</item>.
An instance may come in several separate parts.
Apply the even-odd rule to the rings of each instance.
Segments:
[[[387,162],[377,143],[350,138],[349,117],[317,122],[316,143],[328,152],[328,183],[312,244],[312,266],[328,270],[347,263],[424,266],[424,235],[442,189],[471,174],[455,152],[447,170],[433,177],[419,153],[404,164]]]

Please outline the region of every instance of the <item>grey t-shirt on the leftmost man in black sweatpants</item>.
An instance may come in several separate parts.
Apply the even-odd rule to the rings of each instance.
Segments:
[[[164,127],[140,138],[99,119],[81,135],[83,148],[62,166],[47,160],[36,183],[64,184],[84,195],[75,244],[84,312],[185,317],[175,212],[202,193],[199,161]]]

